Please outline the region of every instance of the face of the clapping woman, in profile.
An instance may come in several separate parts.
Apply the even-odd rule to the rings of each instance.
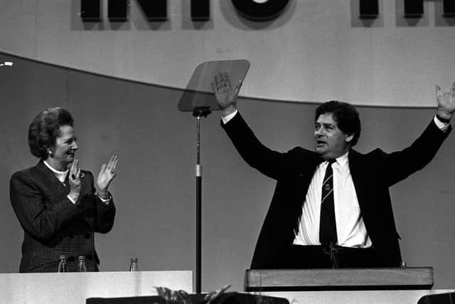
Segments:
[[[66,168],[68,164],[73,162],[76,150],[77,143],[74,128],[70,125],[60,126],[60,132],[55,138],[55,146],[50,158],[55,164],[60,164],[60,166]]]

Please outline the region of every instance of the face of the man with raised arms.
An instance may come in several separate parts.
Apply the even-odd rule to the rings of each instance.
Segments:
[[[338,129],[332,113],[324,113],[314,123],[314,140],[316,153],[323,159],[333,159],[349,150],[353,135],[347,135]]]

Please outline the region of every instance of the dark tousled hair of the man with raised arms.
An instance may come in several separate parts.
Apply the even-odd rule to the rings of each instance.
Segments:
[[[347,135],[354,135],[353,140],[350,141],[350,147],[357,144],[360,137],[360,117],[357,109],[349,103],[331,100],[316,108],[314,121],[316,122],[321,114],[326,113],[331,113],[333,115],[333,120],[338,124],[338,129]]]

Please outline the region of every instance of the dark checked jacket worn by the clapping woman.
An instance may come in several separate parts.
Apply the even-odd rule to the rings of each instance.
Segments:
[[[67,197],[68,177],[64,185],[42,160],[11,177],[11,204],[24,231],[19,272],[56,272],[60,255],[67,256],[68,271],[76,271],[78,256],[87,258],[87,271],[98,271],[93,234],[112,229],[115,206],[95,195],[92,173],[81,172],[76,204]]]

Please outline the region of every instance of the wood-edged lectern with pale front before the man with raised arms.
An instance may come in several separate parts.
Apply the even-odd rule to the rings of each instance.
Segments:
[[[455,290],[433,290],[433,268],[252,269],[245,291],[293,303],[439,304]],[[455,302],[454,302],[455,303]]]

